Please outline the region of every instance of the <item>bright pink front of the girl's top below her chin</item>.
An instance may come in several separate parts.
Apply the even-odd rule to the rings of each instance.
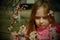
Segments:
[[[46,27],[45,29],[37,28],[38,39],[39,40],[50,40],[50,27]]]

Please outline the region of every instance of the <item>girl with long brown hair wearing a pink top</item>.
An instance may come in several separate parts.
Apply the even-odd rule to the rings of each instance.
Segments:
[[[55,23],[53,11],[46,0],[35,2],[27,33],[26,40],[57,40],[56,34],[60,33],[60,26]]]

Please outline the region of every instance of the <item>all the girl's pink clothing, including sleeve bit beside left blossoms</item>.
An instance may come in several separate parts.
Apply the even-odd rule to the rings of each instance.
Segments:
[[[42,28],[39,28],[39,27],[37,27],[37,30],[36,30],[36,32],[37,32],[37,39],[34,39],[34,40],[51,40],[51,34],[50,34],[50,32],[51,32],[51,30],[50,30],[50,28],[54,28],[54,30],[56,31],[56,33],[57,34],[60,34],[60,26],[57,26],[57,25],[54,25],[53,27],[51,27],[51,26],[47,26],[46,28],[44,28],[44,29],[42,29]],[[25,32],[24,32],[24,36],[25,36],[25,38],[26,37],[28,37],[26,34],[27,34],[27,31],[28,30],[26,30]],[[54,35],[53,35],[54,36]],[[17,38],[18,39],[18,38]]]

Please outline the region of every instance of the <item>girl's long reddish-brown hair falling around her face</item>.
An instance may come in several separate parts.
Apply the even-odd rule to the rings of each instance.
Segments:
[[[33,5],[33,8],[32,8],[32,12],[31,12],[30,20],[29,20],[27,35],[29,35],[32,31],[36,31],[35,14],[36,14],[36,11],[38,10],[38,8],[41,6],[46,8],[48,12],[51,9],[51,6],[49,5],[49,2],[47,0],[38,0],[35,2],[35,4]],[[55,22],[54,17],[51,15],[49,15],[49,16],[50,16],[49,19],[52,20],[50,23],[53,24]]]

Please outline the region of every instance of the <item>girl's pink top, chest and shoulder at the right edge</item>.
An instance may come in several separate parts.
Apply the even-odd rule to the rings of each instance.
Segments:
[[[50,28],[49,26],[44,29],[37,27],[38,40],[50,40]],[[60,33],[60,26],[55,25],[53,28],[56,30],[56,33]]]

